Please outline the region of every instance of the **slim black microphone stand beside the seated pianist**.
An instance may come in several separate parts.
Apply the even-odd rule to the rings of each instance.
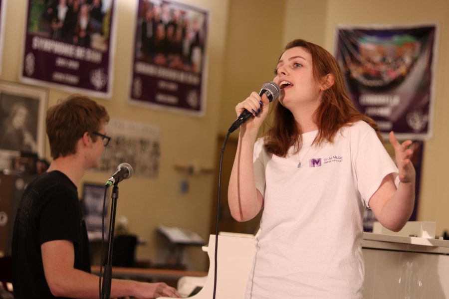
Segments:
[[[114,240],[114,226],[115,226],[115,210],[117,207],[118,199],[118,182],[114,184],[112,188],[112,204],[111,204],[111,216],[109,220],[109,240],[108,240],[108,256],[107,262],[104,266],[103,286],[101,288],[101,299],[111,298],[111,283],[112,283],[112,245]],[[100,261],[103,263],[103,261]]]

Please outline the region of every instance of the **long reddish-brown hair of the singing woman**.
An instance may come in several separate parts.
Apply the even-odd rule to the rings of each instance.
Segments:
[[[302,39],[289,42],[284,51],[294,47],[301,47],[312,55],[315,80],[320,82],[324,76],[332,74],[335,81],[323,92],[321,104],[313,115],[314,122],[318,126],[318,135],[313,144],[319,146],[324,142],[333,142],[335,134],[342,127],[360,120],[368,123],[381,138],[376,123],[360,113],[349,98],[337,60],[324,48]],[[294,151],[298,152],[302,147],[301,134],[301,128],[297,126],[293,114],[277,101],[273,124],[264,134],[265,149],[282,157],[287,155],[288,149],[292,146]]]

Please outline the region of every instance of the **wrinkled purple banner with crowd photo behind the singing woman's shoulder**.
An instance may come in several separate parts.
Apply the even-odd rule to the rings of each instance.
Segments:
[[[336,58],[359,111],[383,134],[431,138],[437,26],[338,26],[336,31]]]

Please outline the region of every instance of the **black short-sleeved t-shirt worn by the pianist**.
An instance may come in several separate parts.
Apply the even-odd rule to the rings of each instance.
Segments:
[[[12,237],[14,298],[55,298],[42,266],[40,245],[73,242],[74,268],[90,272],[87,231],[73,182],[62,172],[39,175],[23,192]]]

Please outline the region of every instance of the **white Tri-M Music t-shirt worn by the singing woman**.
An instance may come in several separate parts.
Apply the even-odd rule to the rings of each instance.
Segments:
[[[317,133],[303,134],[300,152],[285,158],[262,139],[254,146],[264,210],[246,299],[363,298],[363,212],[398,169],[363,121],[311,147]]]

